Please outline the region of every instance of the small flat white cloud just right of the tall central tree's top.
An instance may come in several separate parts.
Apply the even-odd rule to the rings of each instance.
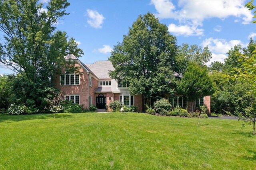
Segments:
[[[204,33],[204,29],[199,29],[197,26],[175,25],[173,23],[168,26],[168,31],[174,35],[184,35],[185,37],[191,35],[203,35]]]

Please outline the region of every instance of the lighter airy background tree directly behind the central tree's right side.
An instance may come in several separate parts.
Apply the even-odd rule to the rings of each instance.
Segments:
[[[189,62],[196,62],[197,64],[204,65],[210,61],[212,53],[209,51],[208,46],[202,49],[198,45],[182,44],[178,47],[176,55],[177,71],[184,74]]]

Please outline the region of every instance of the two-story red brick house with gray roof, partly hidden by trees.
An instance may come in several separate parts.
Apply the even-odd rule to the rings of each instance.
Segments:
[[[75,66],[80,67],[82,74],[74,74],[65,72],[56,75],[54,83],[56,88],[62,90],[66,96],[66,100],[74,101],[74,103],[89,108],[96,105],[98,109],[105,109],[106,104],[114,100],[122,101],[125,106],[137,106],[142,111],[142,106],[146,104],[146,99],[142,99],[141,95],[130,94],[127,84],[121,81],[113,80],[109,77],[109,70],[114,70],[111,61],[96,61],[93,64],[84,64],[74,55],[69,55],[66,59],[74,61]],[[166,96],[173,107],[181,106],[186,108],[188,102],[182,95]],[[196,107],[205,105],[210,113],[210,96],[205,96],[196,100]]]

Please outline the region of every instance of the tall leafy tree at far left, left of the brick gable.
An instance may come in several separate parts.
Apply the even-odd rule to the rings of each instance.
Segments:
[[[66,8],[70,4],[66,0],[40,2],[0,1],[0,31],[4,37],[0,41],[0,62],[22,76],[18,77],[21,85],[30,84],[26,87],[30,87],[28,91],[31,93],[25,97],[33,99],[36,105],[46,97],[45,89],[54,86],[54,74],[66,66],[64,56],[83,54],[73,38],[56,31],[58,22],[68,14]],[[14,91],[15,94],[20,92]],[[24,101],[22,98],[20,96]]]

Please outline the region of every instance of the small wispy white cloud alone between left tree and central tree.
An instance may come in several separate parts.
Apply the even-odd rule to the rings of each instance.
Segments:
[[[87,23],[94,28],[102,28],[103,20],[105,19],[102,14],[99,14],[96,10],[87,9],[87,15],[89,19]]]

